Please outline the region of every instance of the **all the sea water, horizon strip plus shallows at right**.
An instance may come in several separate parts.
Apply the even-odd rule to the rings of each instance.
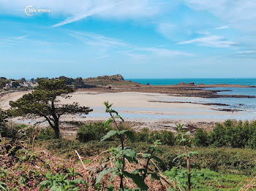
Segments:
[[[181,82],[195,84],[228,84],[228,85],[249,85],[255,87],[208,87],[206,90],[222,90],[219,94],[226,95],[256,95],[256,78],[185,78],[185,79],[127,79],[132,82],[139,82],[146,85],[176,85]],[[165,100],[168,101],[168,100]],[[216,103],[228,104],[228,106],[216,106],[219,109],[236,109],[241,114],[237,120],[256,120],[256,98],[191,98],[177,97],[171,101],[190,101],[202,104]],[[220,116],[219,116],[220,117]]]

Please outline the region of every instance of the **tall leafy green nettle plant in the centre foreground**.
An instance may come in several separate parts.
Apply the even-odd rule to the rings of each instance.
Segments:
[[[104,104],[106,106],[106,112],[110,114],[110,119],[105,122],[105,128],[109,128],[110,123],[113,123],[116,130],[110,130],[105,136],[102,137],[101,141],[105,141],[113,138],[113,136],[117,136],[120,140],[121,146],[109,149],[111,156],[110,162],[113,164],[113,167],[105,168],[103,171],[101,171],[99,176],[97,176],[96,184],[99,184],[102,181],[103,176],[106,174],[111,174],[111,182],[113,181],[114,176],[119,177],[119,190],[129,190],[127,187],[125,187],[124,178],[132,179],[132,181],[138,186],[138,190],[148,190],[148,186],[145,184],[145,179],[148,175],[151,175],[152,179],[160,179],[159,174],[148,169],[151,160],[157,160],[159,162],[161,161],[159,157],[154,155],[154,152],[159,152],[157,149],[159,142],[157,141],[154,146],[148,147],[147,152],[137,154],[131,147],[126,146],[128,140],[135,140],[132,131],[121,128],[121,123],[124,122],[124,119],[118,114],[118,112],[111,109],[112,104],[108,104],[108,102],[105,102]],[[120,122],[118,122],[118,120]],[[143,165],[143,168],[127,171],[128,163],[139,163],[138,155],[141,155],[141,157],[146,160],[146,165]],[[108,187],[108,190],[113,189],[113,187]]]

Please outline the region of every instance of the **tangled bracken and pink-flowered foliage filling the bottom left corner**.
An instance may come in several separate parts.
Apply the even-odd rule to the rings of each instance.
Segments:
[[[48,153],[33,152],[20,141],[2,138],[0,155],[0,190],[86,190],[86,182],[74,169],[54,163]]]

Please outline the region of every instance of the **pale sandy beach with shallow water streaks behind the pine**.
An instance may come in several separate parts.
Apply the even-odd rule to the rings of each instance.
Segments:
[[[22,95],[29,92],[14,92],[4,94],[0,98],[0,105],[3,109],[9,109],[9,102],[15,101]],[[141,92],[91,92],[80,90],[71,94],[72,97],[60,98],[61,103],[71,104],[78,102],[80,106],[89,106],[94,109],[86,117],[66,115],[61,118],[62,122],[67,121],[94,121],[106,120],[104,102],[109,101],[128,122],[134,122],[133,126],[140,128],[148,127],[152,129],[172,130],[177,122],[185,125],[197,126],[198,124],[211,124],[222,122],[226,119],[243,119],[242,112],[218,111],[216,106],[189,103],[170,103],[172,101],[183,101],[185,97],[171,96],[167,93],[141,93]],[[196,97],[189,97],[190,100],[197,102]],[[168,101],[169,103],[165,103]],[[14,119],[15,122],[32,122],[20,118]],[[36,122],[37,120],[33,121]],[[32,123],[33,123],[32,122]],[[140,125],[138,125],[138,122]],[[47,125],[45,123],[45,125]]]

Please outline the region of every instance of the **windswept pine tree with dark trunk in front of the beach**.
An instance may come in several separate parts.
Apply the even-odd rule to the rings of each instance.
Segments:
[[[89,114],[89,107],[73,104],[59,104],[59,96],[68,98],[75,90],[64,79],[37,79],[38,86],[32,93],[23,95],[18,101],[10,101],[10,114],[44,117],[59,139],[59,119],[63,114]]]

